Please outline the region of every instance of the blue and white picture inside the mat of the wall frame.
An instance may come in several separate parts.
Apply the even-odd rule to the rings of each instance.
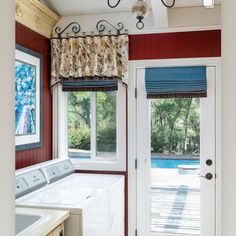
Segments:
[[[15,61],[15,135],[36,132],[36,67]]]

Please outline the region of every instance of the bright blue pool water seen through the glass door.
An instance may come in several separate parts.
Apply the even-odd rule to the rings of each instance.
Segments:
[[[193,159],[151,159],[151,168],[170,168],[176,169],[178,165],[200,165],[200,160]]]

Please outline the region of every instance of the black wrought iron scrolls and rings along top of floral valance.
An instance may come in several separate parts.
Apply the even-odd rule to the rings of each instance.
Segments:
[[[66,31],[69,28],[71,28],[72,33],[74,33],[75,37],[78,36],[79,32],[81,31],[81,26],[79,23],[71,22],[63,29],[59,26],[55,28],[54,31],[55,31],[55,34],[57,35],[57,38],[62,38],[62,34],[66,33]],[[125,34],[127,34],[127,32],[128,32],[127,30],[124,30],[124,25],[122,22],[118,22],[117,26],[114,26],[106,20],[98,21],[96,24],[96,29],[99,33],[103,33],[105,30],[107,30],[109,34],[113,30],[113,31],[116,31],[117,35],[120,35],[122,30],[124,31]],[[83,36],[85,36],[85,35],[86,35],[86,33],[83,32]],[[94,32],[91,32],[91,35],[94,35]],[[55,37],[52,37],[52,38],[55,38]]]

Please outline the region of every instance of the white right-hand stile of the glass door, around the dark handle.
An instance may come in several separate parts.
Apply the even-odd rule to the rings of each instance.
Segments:
[[[200,175],[216,173],[216,67],[207,66],[207,98],[200,99]],[[206,160],[213,161],[211,166]],[[200,178],[200,235],[215,236],[216,229],[216,179]],[[206,210],[207,209],[207,210]]]

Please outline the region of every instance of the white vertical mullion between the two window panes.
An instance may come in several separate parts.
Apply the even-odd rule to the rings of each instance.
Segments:
[[[97,96],[96,92],[91,93],[91,159],[96,159],[96,153],[97,153],[97,138],[96,138],[96,126],[97,126],[97,117],[96,117],[96,110],[97,110]]]

